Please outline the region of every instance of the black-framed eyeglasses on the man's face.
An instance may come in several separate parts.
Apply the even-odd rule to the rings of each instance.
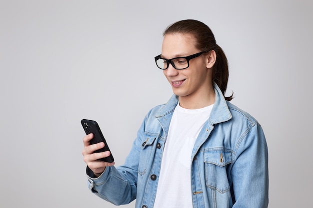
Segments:
[[[155,56],[156,66],[162,70],[167,69],[169,64],[171,64],[175,69],[186,69],[189,67],[189,60],[200,56],[202,53],[207,53],[208,51],[201,51],[189,56],[176,57],[171,59],[162,58],[161,55]]]

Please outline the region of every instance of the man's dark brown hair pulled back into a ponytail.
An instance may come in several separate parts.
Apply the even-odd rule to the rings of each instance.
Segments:
[[[191,34],[195,38],[196,48],[201,51],[215,51],[216,61],[213,66],[212,81],[217,84],[217,86],[223,93],[225,100],[230,101],[232,99],[233,93],[231,94],[231,96],[225,97],[225,91],[228,82],[228,61],[224,51],[216,44],[211,29],[206,24],[200,21],[186,19],[177,21],[169,25],[163,32],[163,35],[168,33]]]

